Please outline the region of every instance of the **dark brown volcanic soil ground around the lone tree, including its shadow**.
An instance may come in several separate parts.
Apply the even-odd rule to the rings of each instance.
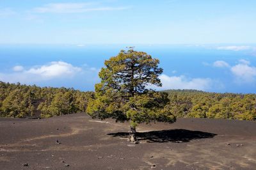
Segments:
[[[0,169],[256,168],[253,121],[180,118],[140,125],[139,144],[127,141],[128,130],[129,123],[84,113],[0,118]]]

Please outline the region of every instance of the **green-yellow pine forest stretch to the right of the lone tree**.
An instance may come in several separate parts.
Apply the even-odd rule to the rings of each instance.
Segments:
[[[256,120],[256,95],[168,90],[170,112],[179,118]]]

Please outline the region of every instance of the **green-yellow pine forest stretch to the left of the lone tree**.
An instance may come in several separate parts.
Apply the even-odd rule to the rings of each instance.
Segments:
[[[84,112],[93,92],[67,88],[39,88],[0,82],[0,117],[49,118]]]

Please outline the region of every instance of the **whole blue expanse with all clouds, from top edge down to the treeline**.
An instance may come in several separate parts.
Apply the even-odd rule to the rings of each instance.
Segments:
[[[93,90],[135,46],[163,88],[256,93],[256,1],[0,1],[0,81]]]

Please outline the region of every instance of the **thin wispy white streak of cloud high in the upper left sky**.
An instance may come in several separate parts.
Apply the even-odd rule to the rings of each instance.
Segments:
[[[113,11],[125,10],[127,7],[95,7],[98,3],[50,3],[42,7],[34,8],[33,12],[37,13],[84,13],[92,11]]]

